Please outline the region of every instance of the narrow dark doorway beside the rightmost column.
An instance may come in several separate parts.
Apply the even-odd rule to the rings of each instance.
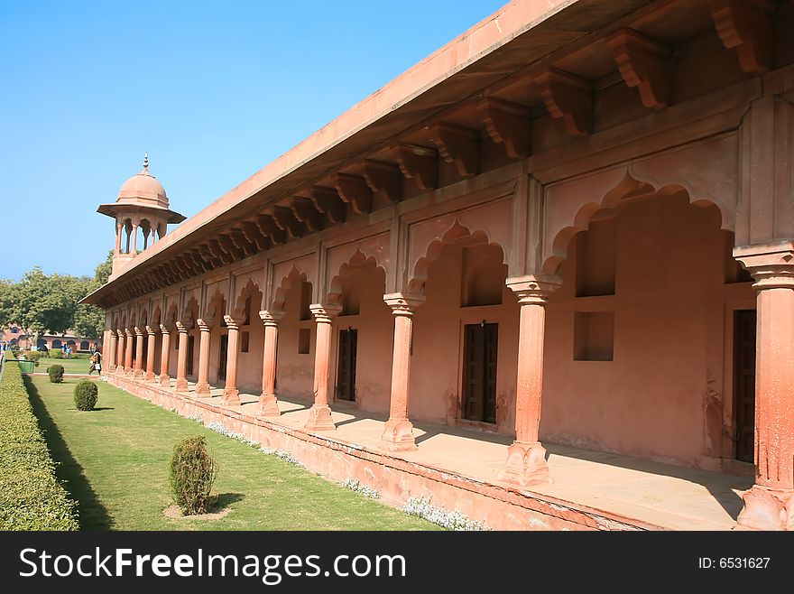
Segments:
[[[736,311],[734,327],[734,401],[736,459],[755,459],[755,310]]]

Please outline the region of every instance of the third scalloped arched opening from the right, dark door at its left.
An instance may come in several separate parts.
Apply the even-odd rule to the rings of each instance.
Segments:
[[[331,281],[334,319],[332,393],[366,411],[387,413],[392,377],[392,311],[383,302],[386,277],[374,258],[357,252]]]

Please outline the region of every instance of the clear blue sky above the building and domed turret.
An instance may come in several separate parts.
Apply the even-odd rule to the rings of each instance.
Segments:
[[[93,274],[141,170],[192,216],[506,0],[0,0],[0,278]]]

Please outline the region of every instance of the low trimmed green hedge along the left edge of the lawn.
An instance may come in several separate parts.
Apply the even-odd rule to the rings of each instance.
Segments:
[[[0,530],[78,530],[77,505],[55,478],[39,423],[12,361],[0,382]]]

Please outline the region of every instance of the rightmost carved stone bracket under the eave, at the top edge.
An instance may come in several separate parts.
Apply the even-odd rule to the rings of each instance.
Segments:
[[[712,0],[711,15],[723,45],[736,50],[742,70],[757,74],[771,69],[774,27],[770,14],[742,0]]]

